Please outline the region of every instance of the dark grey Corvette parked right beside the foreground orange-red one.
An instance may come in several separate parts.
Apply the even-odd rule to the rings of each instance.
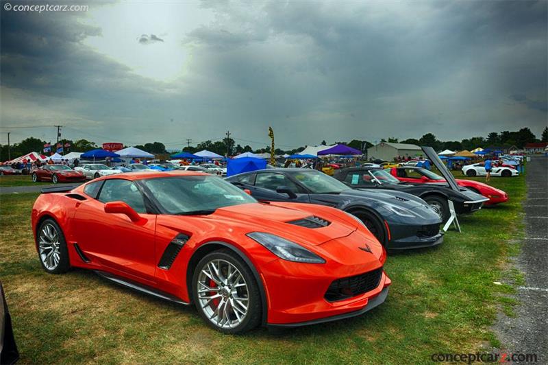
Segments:
[[[322,204],[358,217],[388,249],[443,242],[440,217],[421,198],[397,191],[354,190],[313,169],[263,169],[230,176],[259,201]]]

